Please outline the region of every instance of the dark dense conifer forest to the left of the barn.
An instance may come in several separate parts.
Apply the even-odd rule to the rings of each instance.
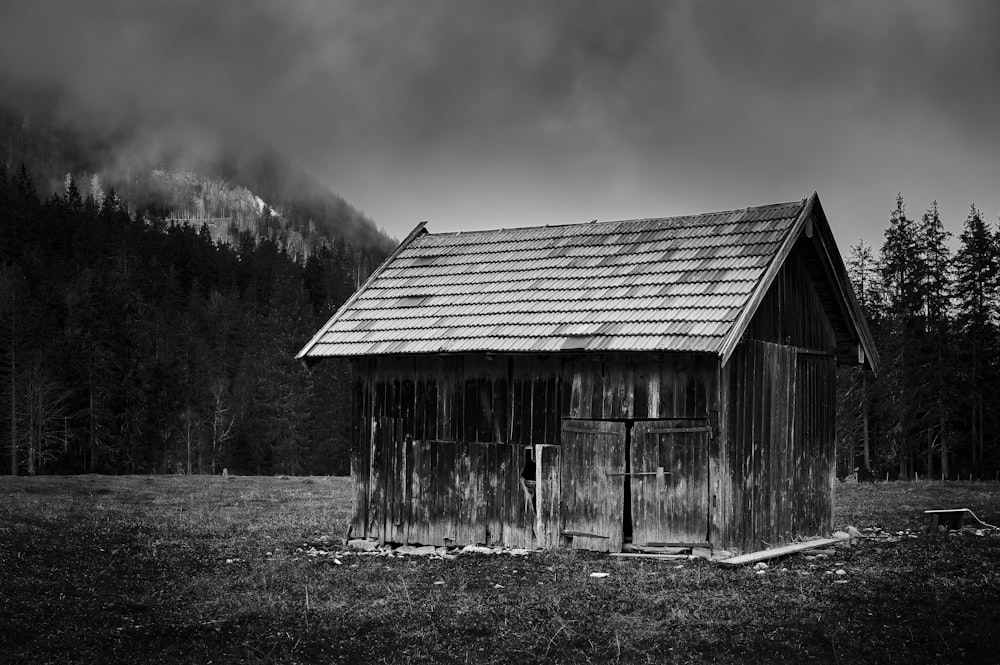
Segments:
[[[346,473],[348,367],[294,355],[384,256],[217,242],[0,168],[4,470]]]

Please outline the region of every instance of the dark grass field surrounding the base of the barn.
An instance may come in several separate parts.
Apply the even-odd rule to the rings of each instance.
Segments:
[[[1000,484],[839,485],[838,528],[904,537],[763,573],[569,551],[338,565],[301,550],[345,534],[347,479],[2,478],[0,663],[998,663],[1000,534],[923,531],[959,506],[1000,524]]]

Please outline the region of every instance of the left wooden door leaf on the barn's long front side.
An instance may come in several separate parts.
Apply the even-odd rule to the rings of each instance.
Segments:
[[[625,423],[564,420],[562,535],[577,549],[621,552]]]

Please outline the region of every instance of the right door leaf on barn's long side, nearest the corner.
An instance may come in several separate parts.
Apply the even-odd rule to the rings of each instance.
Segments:
[[[707,540],[711,436],[707,420],[635,423],[629,451],[633,544]]]

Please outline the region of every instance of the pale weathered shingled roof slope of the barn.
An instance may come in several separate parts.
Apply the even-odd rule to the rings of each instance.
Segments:
[[[728,358],[814,205],[815,194],[659,219],[440,234],[421,224],[298,357],[574,350]]]

